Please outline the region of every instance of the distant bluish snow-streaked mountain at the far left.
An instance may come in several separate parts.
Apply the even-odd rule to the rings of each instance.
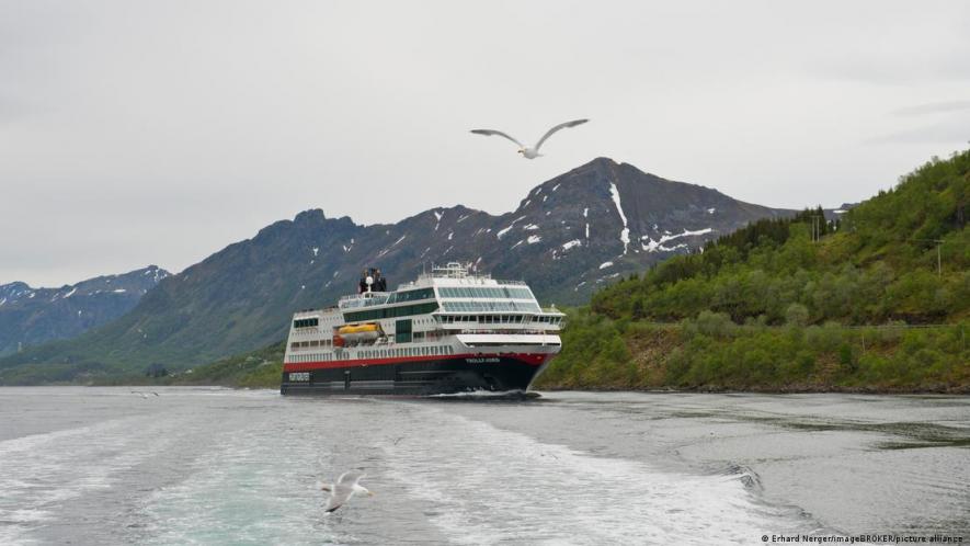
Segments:
[[[132,310],[169,272],[155,265],[60,288],[0,284],[0,354],[73,338]]]

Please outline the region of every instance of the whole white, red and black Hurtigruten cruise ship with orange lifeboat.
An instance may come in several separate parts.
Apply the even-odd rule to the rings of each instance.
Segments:
[[[514,393],[559,353],[564,316],[521,281],[432,268],[387,292],[376,270],[335,307],[293,316],[284,395]]]

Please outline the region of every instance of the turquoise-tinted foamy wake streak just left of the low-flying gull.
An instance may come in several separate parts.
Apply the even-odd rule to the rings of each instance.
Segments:
[[[334,534],[319,489],[326,451],[259,423],[225,435],[189,476],[152,493],[139,517],[141,544],[327,544]],[[317,462],[316,465],[307,464]],[[339,542],[339,541],[336,541]]]

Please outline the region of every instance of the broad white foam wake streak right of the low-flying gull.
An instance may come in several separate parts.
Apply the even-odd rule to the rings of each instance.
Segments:
[[[386,475],[455,544],[753,544],[795,526],[740,476],[662,473],[424,409],[437,425],[383,446]]]

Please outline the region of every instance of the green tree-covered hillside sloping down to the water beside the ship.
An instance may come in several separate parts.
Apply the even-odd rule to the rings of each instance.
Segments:
[[[573,310],[539,386],[967,390],[968,203],[963,151],[672,258]]]

